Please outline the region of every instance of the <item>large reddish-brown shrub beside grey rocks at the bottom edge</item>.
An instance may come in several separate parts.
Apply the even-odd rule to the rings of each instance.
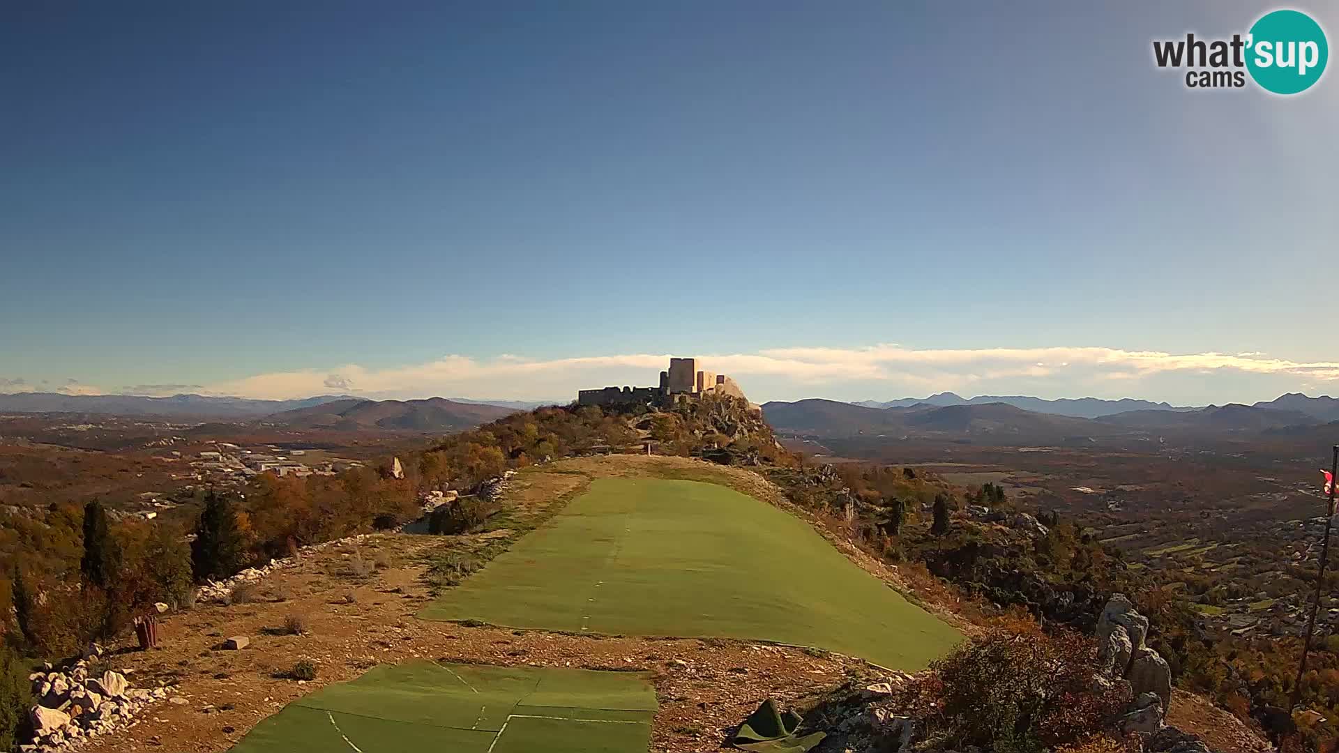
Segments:
[[[953,748],[1036,753],[1106,729],[1129,702],[1118,683],[1094,693],[1097,647],[1078,634],[1046,635],[1010,619],[960,646],[908,685],[905,706]]]

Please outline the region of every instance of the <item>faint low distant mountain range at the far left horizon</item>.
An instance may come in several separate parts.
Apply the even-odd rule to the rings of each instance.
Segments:
[[[283,410],[311,407],[347,395],[320,395],[300,401],[257,401],[205,395],[63,395],[59,393],[0,394],[0,413],[104,413],[111,415],[153,415],[159,418],[245,419]]]

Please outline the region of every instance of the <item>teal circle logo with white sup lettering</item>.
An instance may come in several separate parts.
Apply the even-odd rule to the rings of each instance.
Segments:
[[[1257,84],[1275,94],[1311,88],[1326,72],[1330,46],[1326,32],[1300,11],[1273,11],[1251,27],[1247,70]]]

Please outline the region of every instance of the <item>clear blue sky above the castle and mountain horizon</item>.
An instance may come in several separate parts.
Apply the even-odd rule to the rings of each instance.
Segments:
[[[1269,8],[27,3],[0,390],[1335,393],[1335,74],[1152,63]]]

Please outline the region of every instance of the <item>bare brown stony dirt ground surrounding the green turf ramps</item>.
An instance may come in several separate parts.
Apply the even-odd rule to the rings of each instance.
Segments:
[[[880,677],[876,667],[858,659],[791,647],[722,639],[513,631],[414,616],[431,598],[424,556],[447,548],[478,549],[499,537],[520,535],[552,513],[553,504],[580,493],[596,476],[715,481],[799,512],[754,473],[686,458],[577,458],[529,469],[506,492],[506,521],[517,531],[503,528],[475,536],[382,533],[356,544],[305,552],[296,565],[272,573],[256,600],[200,604],[169,615],[154,650],[115,647],[107,662],[126,671],[134,685],[175,683],[181,699],[149,707],[130,729],[91,741],[83,750],[226,750],[288,702],[323,685],[353,679],[375,665],[410,658],[651,671],[660,701],[652,750],[664,753],[719,749],[734,726],[765,698],[790,706],[848,679]],[[805,517],[860,567],[905,590],[896,569],[842,541],[823,521]],[[359,563],[375,567],[360,576]],[[947,607],[929,607],[969,630],[969,623]],[[301,635],[287,631],[291,618],[305,622],[307,631]],[[250,644],[240,651],[225,650],[222,642],[234,635],[248,636]],[[316,679],[283,678],[300,659],[316,665]],[[1197,697],[1178,691],[1172,718],[1218,750],[1268,750],[1244,725]]]

